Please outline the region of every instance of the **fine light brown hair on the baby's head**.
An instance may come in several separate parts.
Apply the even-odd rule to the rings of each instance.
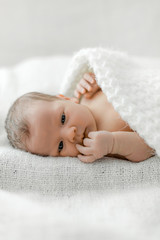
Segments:
[[[14,148],[27,150],[24,140],[25,137],[29,136],[26,114],[28,109],[40,100],[53,102],[61,99],[49,94],[29,92],[19,97],[10,107],[5,120],[5,129],[9,142]]]

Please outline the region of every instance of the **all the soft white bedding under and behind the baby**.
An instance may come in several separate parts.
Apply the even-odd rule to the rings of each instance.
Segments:
[[[84,164],[77,158],[35,156],[8,144],[4,119],[11,102],[28,91],[57,93],[69,61],[38,58],[0,69],[0,237],[158,240],[158,157],[140,163],[106,157]]]

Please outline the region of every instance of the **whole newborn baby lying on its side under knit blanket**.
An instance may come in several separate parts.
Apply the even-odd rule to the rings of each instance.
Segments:
[[[84,74],[74,96],[32,92],[18,98],[5,122],[11,145],[42,156],[78,156],[86,163],[106,155],[133,162],[154,155],[108,102],[93,73]]]

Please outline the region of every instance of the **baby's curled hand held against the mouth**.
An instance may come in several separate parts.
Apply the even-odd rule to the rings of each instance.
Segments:
[[[78,158],[82,162],[91,163],[112,152],[114,137],[108,131],[89,132],[83,144],[84,146],[76,144],[77,150],[83,154],[79,154]]]

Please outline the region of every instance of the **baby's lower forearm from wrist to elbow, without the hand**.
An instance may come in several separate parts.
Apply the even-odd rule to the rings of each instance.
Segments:
[[[130,161],[140,162],[154,155],[150,148],[136,132],[113,132],[114,144],[111,154],[119,154]]]

